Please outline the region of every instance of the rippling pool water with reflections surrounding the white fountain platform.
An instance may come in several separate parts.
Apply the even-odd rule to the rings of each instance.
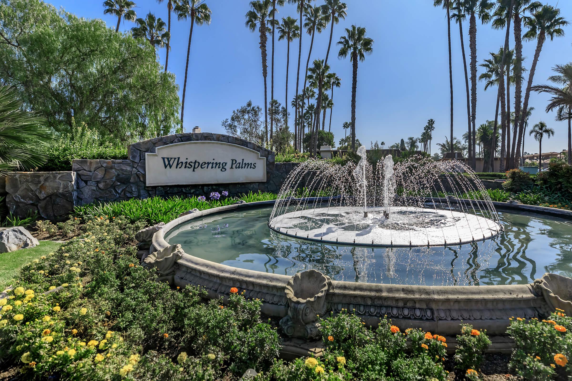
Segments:
[[[505,231],[461,246],[367,248],[321,244],[271,231],[272,208],[191,220],[167,242],[228,266],[293,275],[314,268],[335,280],[368,283],[522,284],[545,272],[572,274],[572,229],[566,220],[499,212]]]

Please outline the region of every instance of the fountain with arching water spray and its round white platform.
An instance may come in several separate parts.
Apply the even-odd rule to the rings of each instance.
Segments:
[[[457,245],[502,231],[482,182],[466,165],[420,155],[396,163],[387,155],[372,165],[364,146],[357,154],[357,164],[300,165],[268,226],[296,238],[370,247]],[[484,199],[470,199],[475,192]]]

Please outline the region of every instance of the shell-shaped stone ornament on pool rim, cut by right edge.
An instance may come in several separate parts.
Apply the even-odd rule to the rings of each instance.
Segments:
[[[534,280],[534,291],[544,296],[552,311],[556,308],[572,315],[572,279],[547,272]]]

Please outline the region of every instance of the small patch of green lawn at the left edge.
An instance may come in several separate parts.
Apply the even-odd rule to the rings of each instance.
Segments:
[[[14,278],[18,268],[32,259],[58,250],[59,246],[61,243],[58,242],[40,241],[36,247],[0,253],[0,291],[10,285],[10,280]]]

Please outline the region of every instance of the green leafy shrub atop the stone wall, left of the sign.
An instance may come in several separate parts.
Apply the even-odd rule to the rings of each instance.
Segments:
[[[71,171],[73,159],[127,158],[127,143],[103,139],[84,122],[77,126],[73,117],[70,129],[46,150],[47,162],[38,171]]]

